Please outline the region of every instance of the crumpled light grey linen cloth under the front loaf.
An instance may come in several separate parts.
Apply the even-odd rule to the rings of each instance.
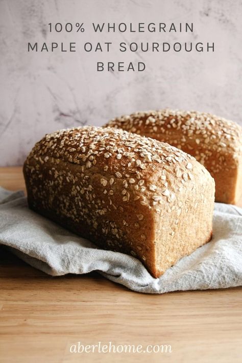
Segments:
[[[52,276],[96,270],[134,291],[163,293],[242,283],[242,209],[215,203],[213,238],[154,279],[136,258],[104,251],[28,208],[23,192],[0,188],[0,243]]]

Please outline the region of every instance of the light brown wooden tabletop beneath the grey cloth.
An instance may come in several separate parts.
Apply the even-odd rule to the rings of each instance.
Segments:
[[[25,190],[21,169],[1,168],[0,185]],[[242,359],[239,288],[141,294],[97,273],[47,276],[3,247],[0,256],[2,363]],[[172,353],[70,353],[77,342],[171,345]]]

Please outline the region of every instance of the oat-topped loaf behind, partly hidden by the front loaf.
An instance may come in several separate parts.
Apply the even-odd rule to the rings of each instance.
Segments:
[[[108,122],[166,142],[196,157],[215,180],[215,201],[236,204],[242,194],[242,128],[214,115],[161,109]]]

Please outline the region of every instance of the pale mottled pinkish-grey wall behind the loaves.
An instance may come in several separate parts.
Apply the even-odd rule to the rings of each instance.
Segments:
[[[0,0],[0,165],[21,164],[46,132],[101,125],[135,110],[211,111],[242,123],[240,0]],[[84,22],[50,34],[47,23]],[[92,21],[193,22],[193,34],[103,34]],[[27,42],[214,41],[214,53],[28,53]],[[144,61],[140,73],[97,73],[96,61]]]

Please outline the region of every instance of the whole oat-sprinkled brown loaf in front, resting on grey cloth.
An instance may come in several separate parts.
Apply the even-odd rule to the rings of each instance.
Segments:
[[[115,128],[46,134],[28,156],[30,208],[154,277],[212,236],[214,180],[185,152]]]

